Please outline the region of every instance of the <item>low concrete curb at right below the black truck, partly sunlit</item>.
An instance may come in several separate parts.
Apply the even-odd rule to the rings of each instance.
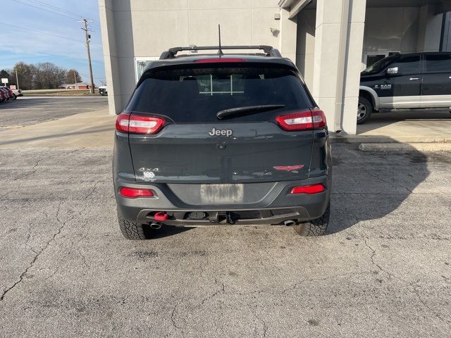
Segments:
[[[451,151],[451,143],[362,143],[361,151]]]

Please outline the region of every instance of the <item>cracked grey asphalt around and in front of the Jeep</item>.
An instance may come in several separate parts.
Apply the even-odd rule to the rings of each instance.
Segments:
[[[451,154],[334,144],[329,234],[121,237],[111,148],[0,150],[1,337],[449,337]]]

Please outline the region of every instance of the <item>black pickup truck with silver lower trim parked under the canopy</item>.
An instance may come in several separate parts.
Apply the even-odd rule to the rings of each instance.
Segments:
[[[388,56],[361,74],[358,124],[375,111],[450,107],[450,52]]]

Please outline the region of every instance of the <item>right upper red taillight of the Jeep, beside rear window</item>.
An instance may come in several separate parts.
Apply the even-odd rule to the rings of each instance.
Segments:
[[[276,118],[276,122],[283,130],[289,132],[295,130],[311,130],[326,127],[326,115],[323,111],[301,111],[287,115],[280,115]]]

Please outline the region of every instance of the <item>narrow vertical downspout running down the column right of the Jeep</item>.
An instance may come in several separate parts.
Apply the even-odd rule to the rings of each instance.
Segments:
[[[340,46],[338,49],[338,72],[337,72],[337,91],[335,92],[335,118],[334,131],[342,131],[343,111],[345,108],[345,73],[347,69],[347,49],[349,40],[347,31],[350,19],[350,1],[342,1],[341,25],[340,25]]]

